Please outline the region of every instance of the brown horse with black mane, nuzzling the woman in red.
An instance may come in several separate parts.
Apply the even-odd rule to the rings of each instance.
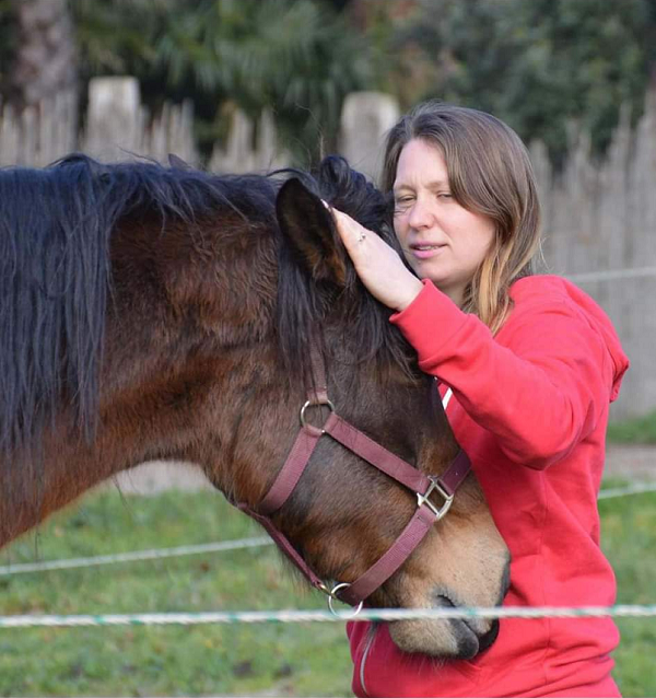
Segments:
[[[0,171],[0,545],[115,474],[171,459],[200,466],[311,578],[339,580],[319,584],[330,597],[430,509],[440,521],[360,601],[502,602],[508,552],[473,474],[431,503],[460,453],[434,380],[359,281],[324,201],[398,251],[388,198],[338,156],[314,173],[82,153]],[[327,438],[331,418],[356,427]],[[353,444],[374,442],[427,489],[371,467]],[[290,452],[303,468],[263,516]],[[497,623],[390,632],[408,652],[471,658]]]

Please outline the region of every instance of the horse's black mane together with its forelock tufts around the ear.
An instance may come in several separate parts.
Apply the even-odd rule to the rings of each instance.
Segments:
[[[215,176],[150,161],[104,165],[82,154],[43,170],[0,170],[0,451],[27,446],[62,400],[92,434],[112,282],[109,240],[121,221],[154,212],[164,231],[167,220],[194,223],[230,208],[245,224],[263,224],[279,239],[276,195],[292,175],[394,243],[384,197],[339,158],[327,159],[316,176]],[[345,292],[356,299],[362,357],[387,346],[402,360],[388,314],[349,269]],[[288,268],[280,279],[283,353],[301,361],[300,333],[313,323],[306,311],[327,295]]]

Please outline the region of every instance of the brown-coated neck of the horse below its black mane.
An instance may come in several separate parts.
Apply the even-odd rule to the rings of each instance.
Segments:
[[[261,370],[261,349],[253,345],[271,326],[274,267],[262,260],[266,251],[249,247],[220,274],[218,255],[200,249],[190,264],[188,252],[174,248],[184,247],[184,235],[167,240],[166,255],[150,251],[143,259],[131,249],[121,256],[116,242],[96,435],[85,443],[60,415],[36,465],[0,463],[0,545],[144,461],[191,461],[214,482],[230,481],[223,444],[234,442],[234,410],[224,414],[220,405],[241,404],[249,371]],[[164,257],[156,278],[148,274],[155,254]]]

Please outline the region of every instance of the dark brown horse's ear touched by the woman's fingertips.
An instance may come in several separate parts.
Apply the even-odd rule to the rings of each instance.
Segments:
[[[345,251],[321,199],[293,177],[278,193],[276,213],[282,234],[313,279],[345,286]]]

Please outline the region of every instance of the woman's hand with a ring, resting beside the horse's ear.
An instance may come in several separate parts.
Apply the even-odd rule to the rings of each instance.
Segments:
[[[326,207],[353,260],[355,271],[370,293],[395,311],[402,311],[417,298],[422,282],[403,265],[399,255],[376,233],[347,213]]]

